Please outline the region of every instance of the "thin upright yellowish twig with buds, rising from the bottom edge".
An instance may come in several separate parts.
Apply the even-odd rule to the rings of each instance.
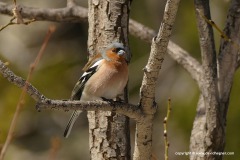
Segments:
[[[169,148],[169,141],[168,141],[168,135],[167,135],[167,123],[168,123],[168,119],[169,119],[169,116],[170,116],[170,113],[171,113],[171,99],[169,98],[168,99],[168,108],[167,108],[167,116],[164,118],[163,120],[163,128],[164,128],[164,143],[165,143],[165,154],[164,154],[164,157],[165,157],[165,160],[168,160],[168,148]]]

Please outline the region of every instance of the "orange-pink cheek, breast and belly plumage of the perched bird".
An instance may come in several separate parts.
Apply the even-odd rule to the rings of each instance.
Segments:
[[[86,94],[113,99],[123,93],[128,81],[126,60],[115,53],[107,53],[107,57],[109,60],[103,59],[98,71],[86,83]]]

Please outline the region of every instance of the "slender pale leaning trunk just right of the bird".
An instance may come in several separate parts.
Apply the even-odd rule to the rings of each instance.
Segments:
[[[136,122],[136,138],[133,159],[150,159],[152,152],[153,118],[156,112],[155,87],[164,55],[172,32],[180,0],[168,0],[159,32],[152,40],[150,57],[144,68],[140,89],[140,107],[145,117]]]

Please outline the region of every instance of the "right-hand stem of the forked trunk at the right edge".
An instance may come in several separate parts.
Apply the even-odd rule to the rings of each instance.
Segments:
[[[239,57],[239,37],[240,37],[240,2],[233,0],[231,2],[224,34],[230,39],[226,41],[221,39],[221,45],[218,57],[218,73],[219,73],[219,97],[221,99],[222,116],[226,122],[227,110],[229,105],[229,97],[233,84],[233,77],[238,66]],[[236,46],[236,44],[238,44]]]

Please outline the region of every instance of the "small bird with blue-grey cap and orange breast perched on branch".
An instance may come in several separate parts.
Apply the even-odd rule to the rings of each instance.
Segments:
[[[127,49],[119,42],[111,43],[96,54],[83,68],[84,73],[73,88],[71,100],[112,100],[121,95],[128,82],[127,54]],[[73,111],[64,131],[65,138],[70,135],[81,112]]]

